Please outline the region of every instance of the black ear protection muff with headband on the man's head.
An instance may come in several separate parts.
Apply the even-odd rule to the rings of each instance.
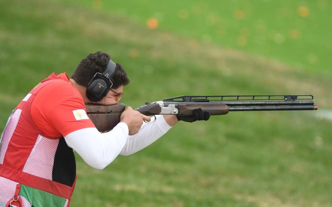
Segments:
[[[90,80],[88,87],[86,88],[86,96],[88,99],[91,101],[99,101],[107,95],[113,85],[111,76],[115,72],[115,67],[116,64],[110,60],[103,74],[95,74],[95,76]]]

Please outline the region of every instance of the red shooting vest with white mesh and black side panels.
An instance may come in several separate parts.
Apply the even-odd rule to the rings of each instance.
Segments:
[[[68,199],[69,206],[76,181],[73,149],[63,137],[46,137],[30,112],[35,95],[52,81],[63,80],[46,78],[13,111],[3,131],[0,176]]]

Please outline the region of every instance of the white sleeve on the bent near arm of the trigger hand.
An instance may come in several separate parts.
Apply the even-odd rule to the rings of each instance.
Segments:
[[[91,167],[104,169],[123,149],[128,137],[128,126],[121,122],[111,131],[100,133],[96,128],[73,131],[64,139]]]

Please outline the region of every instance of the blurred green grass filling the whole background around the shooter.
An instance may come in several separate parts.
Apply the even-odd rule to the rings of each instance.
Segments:
[[[96,51],[110,53],[126,69],[131,83],[122,102],[133,108],[184,94],[311,93],[320,109],[331,110],[328,1],[262,1],[251,10],[264,12],[251,16],[242,1],[225,8],[211,1],[198,6],[223,23],[208,26],[211,30],[199,22],[205,18],[192,15],[198,1],[177,1],[176,9],[165,11],[157,7],[165,2],[144,2],[143,9],[136,1],[114,7],[98,1],[1,1],[0,130],[41,79],[51,72],[71,74]],[[294,22],[269,15],[283,2]],[[309,15],[305,9],[298,13],[300,6],[309,8]],[[187,7],[188,14],[182,11]],[[158,29],[146,27],[151,16]],[[258,19],[267,27],[263,45],[254,43]],[[218,39],[220,25],[224,36]],[[245,36],[243,27],[250,35],[241,46],[244,38],[238,41],[242,34],[236,33]],[[290,38],[291,28],[301,36]],[[331,121],[316,116],[319,111],[233,112],[179,123],[102,171],[77,156],[72,206],[332,206]]]

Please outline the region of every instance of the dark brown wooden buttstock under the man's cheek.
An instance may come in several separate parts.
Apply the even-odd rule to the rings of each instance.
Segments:
[[[86,111],[98,131],[104,132],[113,129],[119,122],[124,104],[99,105],[85,104]]]

